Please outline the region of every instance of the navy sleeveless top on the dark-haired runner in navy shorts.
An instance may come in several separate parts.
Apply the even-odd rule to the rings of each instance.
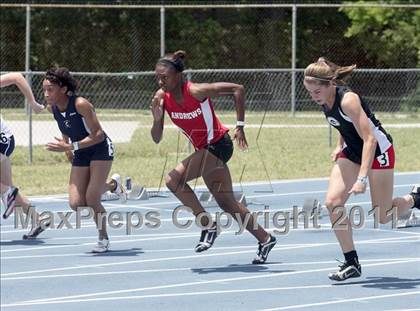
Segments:
[[[76,98],[77,96],[69,98],[65,112],[60,112],[56,105],[52,106],[54,119],[57,121],[61,133],[68,136],[72,142],[80,141],[90,134],[90,129],[83,116],[76,110]]]

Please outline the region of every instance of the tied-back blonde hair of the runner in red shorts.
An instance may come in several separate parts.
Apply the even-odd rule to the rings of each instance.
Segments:
[[[341,67],[324,57],[320,57],[316,63],[312,63],[305,68],[305,81],[318,84],[333,82],[337,85],[345,85],[355,68],[356,65]]]

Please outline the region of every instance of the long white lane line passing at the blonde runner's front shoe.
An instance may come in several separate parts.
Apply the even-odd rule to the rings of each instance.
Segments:
[[[415,262],[415,261],[420,261],[420,259],[401,260],[401,261],[385,262],[385,263],[384,262],[374,263],[374,264],[365,265],[365,267],[387,266],[387,265],[394,265],[394,264]],[[112,299],[113,297],[105,297],[105,298],[98,297],[92,300],[85,299],[85,298],[95,297],[95,296],[109,296],[109,295],[124,294],[124,293],[134,293],[134,292],[156,290],[156,289],[179,288],[179,287],[186,287],[186,286],[197,286],[197,285],[208,285],[208,284],[215,284],[215,283],[217,284],[217,283],[225,283],[225,282],[238,282],[238,281],[244,281],[244,280],[285,277],[285,276],[290,276],[290,275],[325,272],[325,271],[330,271],[330,270],[331,270],[331,267],[322,268],[322,269],[309,269],[309,270],[301,270],[301,271],[282,272],[282,273],[270,273],[270,274],[262,274],[262,275],[259,274],[259,275],[253,275],[253,276],[245,276],[245,277],[223,278],[223,279],[216,279],[216,280],[203,280],[203,281],[195,281],[195,282],[187,282],[187,283],[175,283],[175,284],[168,284],[168,285],[139,287],[139,288],[123,289],[123,290],[102,291],[102,292],[94,292],[94,293],[81,294],[81,295],[70,295],[70,296],[62,296],[62,297],[54,297],[54,298],[46,298],[46,299],[34,299],[34,300],[28,300],[28,301],[24,301],[20,303],[3,304],[1,305],[1,307],[33,306],[33,305],[56,304],[56,303],[62,304],[66,302],[67,303],[80,303],[83,301],[97,301],[100,299],[109,300],[109,299]],[[420,291],[418,291],[417,293],[420,293]]]

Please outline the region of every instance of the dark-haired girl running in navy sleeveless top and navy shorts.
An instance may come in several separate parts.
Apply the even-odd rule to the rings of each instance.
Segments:
[[[42,87],[47,108],[53,113],[63,136],[56,137],[56,142],[48,143],[47,150],[65,152],[72,163],[70,207],[75,211],[84,206],[93,209],[99,238],[92,252],[106,252],[109,238],[101,195],[106,190],[122,188],[118,180],[106,183],[114,159],[114,147],[102,130],[93,105],[75,95],[77,82],[67,68],[48,70]]]

